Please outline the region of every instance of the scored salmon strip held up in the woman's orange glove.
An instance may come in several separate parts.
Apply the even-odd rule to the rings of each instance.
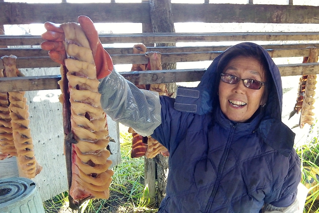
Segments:
[[[78,209],[87,199],[108,199],[113,171],[108,169],[112,164],[106,149],[108,127],[89,42],[77,23],[61,27],[67,59],[61,66],[59,99],[63,103],[70,208]]]

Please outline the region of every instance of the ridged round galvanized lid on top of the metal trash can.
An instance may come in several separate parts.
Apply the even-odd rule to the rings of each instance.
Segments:
[[[16,202],[32,193],[35,183],[31,179],[14,177],[0,180],[0,209],[8,202]]]

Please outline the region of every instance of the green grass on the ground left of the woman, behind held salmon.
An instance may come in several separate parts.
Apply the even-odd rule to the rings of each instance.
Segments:
[[[121,164],[113,167],[113,181],[110,185],[108,200],[93,199],[82,204],[81,213],[155,213],[158,209],[147,207],[148,188],[144,187],[144,158],[130,157],[132,136],[128,132],[120,133]],[[68,193],[56,195],[44,202],[46,213],[70,212],[67,208]]]

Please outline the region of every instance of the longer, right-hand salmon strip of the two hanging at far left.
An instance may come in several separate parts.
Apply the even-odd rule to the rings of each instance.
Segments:
[[[16,67],[16,56],[4,56],[4,76],[18,77],[21,75]],[[35,159],[33,150],[33,141],[29,128],[29,112],[26,98],[23,97],[26,92],[8,92],[9,93],[9,110],[12,125],[12,136],[14,146],[18,154],[18,167],[20,176],[26,178],[34,178],[39,174],[42,167]]]

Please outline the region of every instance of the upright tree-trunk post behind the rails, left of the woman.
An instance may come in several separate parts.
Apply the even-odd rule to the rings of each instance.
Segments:
[[[171,0],[150,0],[150,15],[153,32],[175,32]],[[156,46],[176,46],[176,43],[157,43]],[[176,69],[176,63],[162,63],[163,69]],[[176,83],[166,84],[168,93],[176,92]],[[168,175],[168,157],[158,154],[157,162],[157,197],[159,203],[166,196]],[[158,204],[159,204],[158,203]]]

